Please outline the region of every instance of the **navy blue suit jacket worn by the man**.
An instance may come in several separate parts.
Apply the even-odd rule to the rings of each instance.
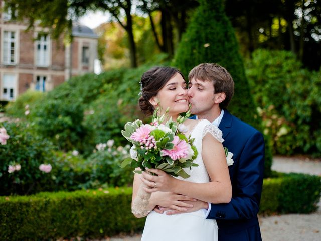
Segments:
[[[234,163],[229,166],[233,194],[227,204],[212,204],[207,218],[216,219],[219,241],[262,240],[257,213],[263,184],[263,135],[227,110],[219,129],[223,146],[233,153]]]

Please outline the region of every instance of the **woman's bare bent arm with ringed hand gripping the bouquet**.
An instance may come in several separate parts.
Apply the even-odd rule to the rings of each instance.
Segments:
[[[143,172],[142,181],[149,187],[154,187],[154,182],[156,182],[156,188],[146,188],[145,191],[171,191],[210,203],[230,202],[232,198],[232,186],[222,144],[208,133],[202,140],[202,147],[203,162],[211,178],[211,182],[188,182],[176,179],[162,170],[149,169],[148,171],[158,176],[152,176]]]

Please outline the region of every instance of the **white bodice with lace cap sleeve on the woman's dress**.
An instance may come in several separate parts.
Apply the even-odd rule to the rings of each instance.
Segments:
[[[216,138],[219,142],[224,142],[224,139],[222,138],[222,131],[218,127],[214,126],[207,119],[201,119],[200,121],[198,121],[198,123],[190,132],[190,134],[192,138],[195,138],[194,145],[199,153],[197,158],[194,160],[194,163],[197,163],[199,166],[192,167],[191,170],[190,168],[184,169],[186,173],[190,175],[189,178],[176,178],[196,183],[206,183],[210,181],[210,177],[207,173],[206,167],[202,159],[202,140],[207,133],[212,134],[212,136]]]

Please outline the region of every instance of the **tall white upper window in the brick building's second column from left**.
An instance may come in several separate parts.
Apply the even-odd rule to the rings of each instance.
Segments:
[[[36,65],[41,67],[49,66],[49,36],[39,35],[36,41]]]

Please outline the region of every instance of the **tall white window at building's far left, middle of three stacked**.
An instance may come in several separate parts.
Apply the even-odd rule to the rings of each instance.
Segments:
[[[3,45],[3,62],[5,64],[15,64],[17,58],[17,33],[13,31],[4,31]]]

